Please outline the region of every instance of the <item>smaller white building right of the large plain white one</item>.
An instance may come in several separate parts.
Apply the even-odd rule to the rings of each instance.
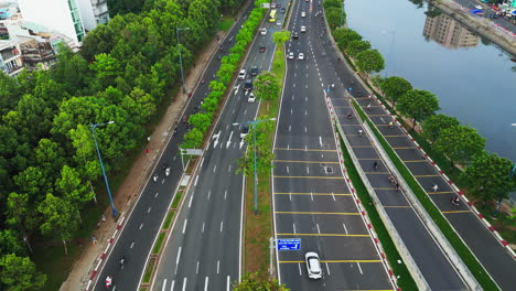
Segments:
[[[107,0],[77,0],[77,4],[86,31],[109,21]]]

